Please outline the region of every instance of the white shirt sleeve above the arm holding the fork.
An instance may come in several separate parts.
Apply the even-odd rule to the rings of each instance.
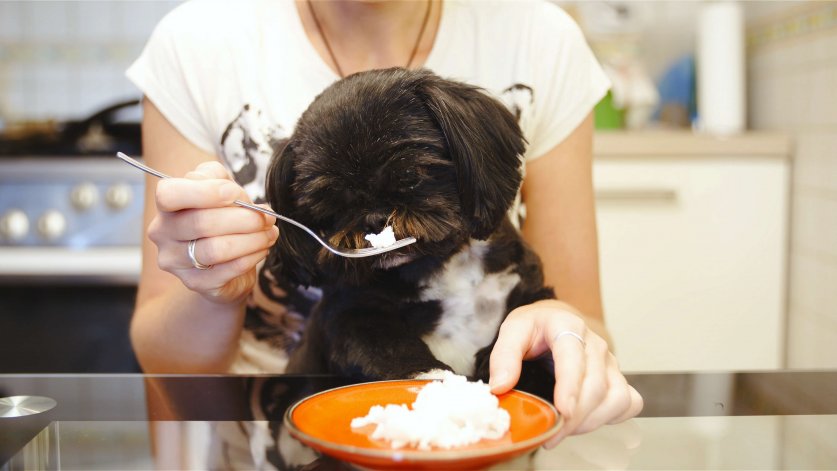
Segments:
[[[193,9],[187,2],[164,17],[125,75],[187,140],[214,154],[199,77],[201,30],[191,26],[200,18]]]

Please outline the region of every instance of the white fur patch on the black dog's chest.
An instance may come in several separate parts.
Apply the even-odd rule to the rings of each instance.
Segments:
[[[514,267],[486,274],[482,259],[487,242],[472,241],[426,280],[421,299],[438,300],[442,315],[436,329],[422,340],[457,374],[474,373],[474,355],[494,340],[506,314],[506,299],[520,282]]]

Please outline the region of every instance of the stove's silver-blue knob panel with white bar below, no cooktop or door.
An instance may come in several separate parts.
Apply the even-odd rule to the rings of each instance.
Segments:
[[[0,160],[0,281],[135,282],[143,187],[116,157]]]

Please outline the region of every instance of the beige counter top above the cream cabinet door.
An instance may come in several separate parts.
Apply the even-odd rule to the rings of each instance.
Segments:
[[[751,131],[713,136],[691,131],[596,131],[596,157],[754,156],[789,158],[792,140],[783,133]]]

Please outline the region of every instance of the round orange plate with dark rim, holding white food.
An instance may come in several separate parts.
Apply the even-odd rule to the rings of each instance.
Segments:
[[[393,449],[372,440],[374,427],[352,429],[374,405],[412,404],[426,380],[363,383],[323,391],[295,403],[285,413],[285,426],[305,445],[333,458],[375,469],[482,468],[533,450],[560,428],[558,411],[543,399],[521,391],[498,396],[511,417],[509,431],[497,440],[446,449]]]

